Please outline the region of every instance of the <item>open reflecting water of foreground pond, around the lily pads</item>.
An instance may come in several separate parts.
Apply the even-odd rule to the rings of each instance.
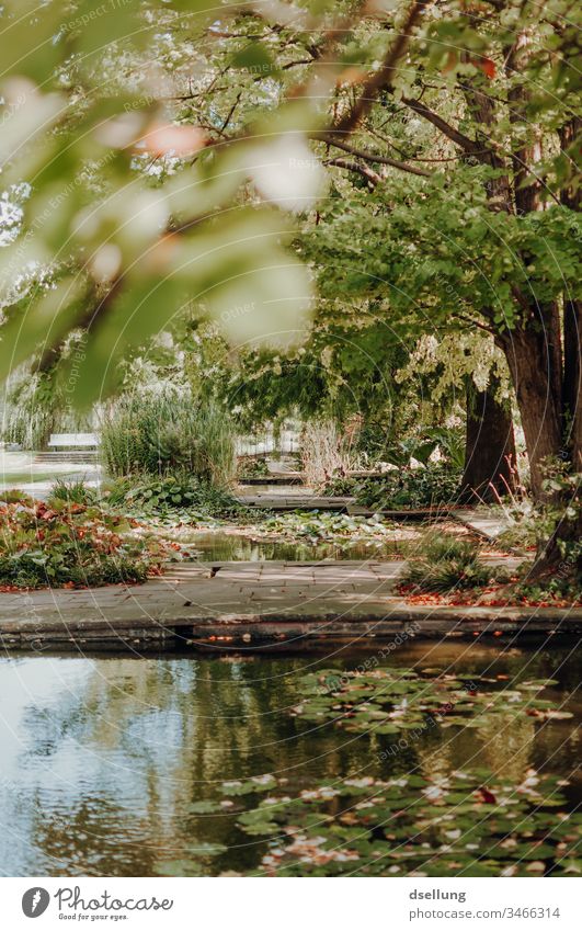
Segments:
[[[468,768],[478,768],[488,785],[487,773],[520,785],[532,780],[535,769],[568,781],[561,808],[572,810],[579,803],[580,675],[571,647],[415,643],[399,647],[389,662],[381,659],[378,666],[376,660],[377,654],[346,650],[301,658],[2,659],[0,872],[249,873],[270,850],[278,854],[261,826],[241,828],[240,813],[264,799],[262,788],[274,781],[277,793],[283,786],[289,799],[321,783],[352,780],[353,792],[361,793],[374,780],[415,773],[423,785],[423,780]],[[517,714],[509,699],[477,726],[427,728],[414,733],[414,739],[409,735],[392,752],[399,734],[350,730],[331,719],[313,723],[292,713],[304,696],[306,673],[331,666],[362,669],[363,663],[425,670],[427,680],[437,671],[469,680],[487,677],[493,691],[551,678],[556,684],[544,696],[574,717]],[[249,780],[258,795],[248,794]],[[230,783],[226,791],[225,781]],[[422,797],[430,798],[431,791],[423,788]],[[356,808],[363,804],[372,805],[361,801]],[[458,833],[449,830],[453,837]],[[529,861],[533,868],[544,867],[539,858]],[[357,874],[354,864],[347,865]],[[430,866],[427,872],[433,875]]]

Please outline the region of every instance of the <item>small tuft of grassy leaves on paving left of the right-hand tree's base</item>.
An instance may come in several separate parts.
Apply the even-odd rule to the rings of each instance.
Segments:
[[[447,592],[486,586],[494,576],[495,570],[479,558],[476,543],[437,534],[409,560],[401,582],[418,591]]]

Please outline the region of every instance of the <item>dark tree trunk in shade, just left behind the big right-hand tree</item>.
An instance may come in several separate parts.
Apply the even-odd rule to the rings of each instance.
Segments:
[[[515,438],[511,411],[495,398],[497,384],[484,391],[467,383],[467,440],[461,501],[494,501],[515,490]]]

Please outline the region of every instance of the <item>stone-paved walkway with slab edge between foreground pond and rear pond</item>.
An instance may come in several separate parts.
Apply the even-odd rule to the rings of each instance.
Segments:
[[[142,586],[0,594],[10,648],[288,647],[313,640],[582,634],[582,610],[408,605],[396,561],[182,564]]]

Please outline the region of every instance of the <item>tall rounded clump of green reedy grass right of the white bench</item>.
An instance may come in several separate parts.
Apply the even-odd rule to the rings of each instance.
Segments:
[[[235,435],[222,408],[164,387],[114,402],[102,420],[101,452],[112,476],[179,473],[225,487],[236,472]]]

